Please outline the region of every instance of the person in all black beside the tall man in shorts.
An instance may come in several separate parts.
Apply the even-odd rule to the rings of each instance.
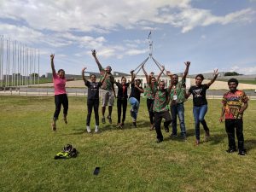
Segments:
[[[118,95],[117,95],[117,108],[118,108],[118,125],[117,127],[122,128],[125,125],[125,114],[127,108],[127,89],[130,86],[130,83],[126,83],[126,78],[122,77],[121,83],[114,82],[118,86]],[[123,118],[121,122],[121,113],[123,108]]]

